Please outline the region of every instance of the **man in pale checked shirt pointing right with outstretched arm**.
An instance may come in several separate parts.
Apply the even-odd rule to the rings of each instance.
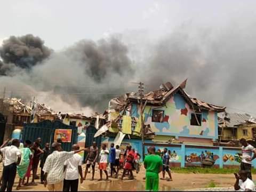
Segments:
[[[53,153],[46,158],[43,171],[44,175],[44,186],[48,188],[49,191],[62,191],[63,189],[63,179],[64,179],[64,165],[65,161],[74,154],[79,153],[80,149],[74,151],[62,151],[61,143],[52,143]]]

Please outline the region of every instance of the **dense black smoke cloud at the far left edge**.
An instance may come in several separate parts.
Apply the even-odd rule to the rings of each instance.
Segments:
[[[51,54],[41,38],[33,35],[11,36],[3,42],[0,55],[6,65],[15,64],[20,68],[31,68]],[[10,68],[10,67],[9,67]],[[9,69],[6,68],[5,69]],[[4,71],[4,68],[1,69]]]

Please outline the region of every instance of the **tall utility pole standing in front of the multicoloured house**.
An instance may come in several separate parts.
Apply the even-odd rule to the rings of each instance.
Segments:
[[[141,123],[141,143],[142,143],[142,158],[144,160],[145,158],[145,130],[144,130],[144,120],[143,120],[143,92],[144,92],[144,87],[143,83],[139,83],[139,95],[140,95],[140,123]]]

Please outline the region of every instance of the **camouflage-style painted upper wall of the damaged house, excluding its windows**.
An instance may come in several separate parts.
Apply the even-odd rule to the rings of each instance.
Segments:
[[[163,110],[162,123],[152,122],[152,113],[155,107],[146,106],[145,124],[150,124],[151,129],[158,135],[174,135],[176,137],[195,137],[218,139],[218,117],[215,111],[203,111],[201,126],[190,125],[191,113],[185,99],[178,93],[166,103],[166,106],[155,110]],[[132,116],[139,117],[139,106],[133,104]]]

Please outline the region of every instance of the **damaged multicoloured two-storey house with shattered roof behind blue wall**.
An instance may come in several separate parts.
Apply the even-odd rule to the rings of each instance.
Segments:
[[[167,82],[143,94],[145,142],[213,146],[218,140],[218,113],[225,107],[191,98],[184,90],[186,83],[173,86]],[[141,151],[140,94],[111,99],[105,115],[107,123],[98,131],[105,136],[102,142],[123,141],[122,145],[131,143]]]

